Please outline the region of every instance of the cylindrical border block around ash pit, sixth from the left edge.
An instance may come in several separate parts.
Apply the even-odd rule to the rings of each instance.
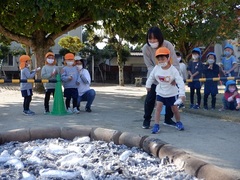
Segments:
[[[153,138],[153,137],[147,137],[143,141],[142,148],[145,152],[152,154],[154,156],[158,156],[159,149],[165,144],[167,144],[167,143],[160,139]]]

